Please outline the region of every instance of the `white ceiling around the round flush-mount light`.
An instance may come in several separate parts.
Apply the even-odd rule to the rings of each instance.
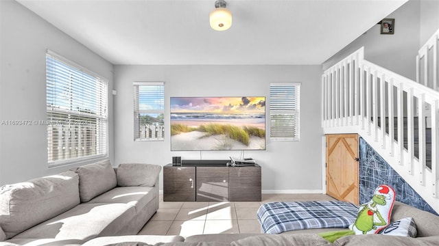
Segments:
[[[322,64],[407,0],[16,0],[112,64]]]

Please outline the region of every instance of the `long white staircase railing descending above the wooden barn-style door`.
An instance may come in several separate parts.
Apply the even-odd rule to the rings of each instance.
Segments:
[[[322,75],[322,127],[359,133],[439,212],[439,92],[366,61],[361,48]]]

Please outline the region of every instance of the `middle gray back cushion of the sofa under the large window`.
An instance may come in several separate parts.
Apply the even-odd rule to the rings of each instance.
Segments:
[[[75,167],[73,171],[80,176],[81,202],[88,202],[117,186],[115,170],[108,160]]]

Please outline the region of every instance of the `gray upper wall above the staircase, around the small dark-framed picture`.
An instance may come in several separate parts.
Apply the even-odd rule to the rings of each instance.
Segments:
[[[420,16],[423,16],[420,12],[420,5],[423,1],[426,0],[410,0],[386,17],[395,19],[393,35],[380,34],[380,25],[374,25],[325,61],[323,69],[326,70],[346,55],[364,46],[366,60],[416,81],[416,55],[420,47]],[[434,13],[431,11],[429,16],[432,15],[436,15],[437,18],[438,11]],[[436,29],[438,27],[439,25],[436,25]],[[430,29],[431,27],[428,31]],[[434,31],[431,31],[428,36],[431,36]],[[427,32],[427,27],[424,32]]]

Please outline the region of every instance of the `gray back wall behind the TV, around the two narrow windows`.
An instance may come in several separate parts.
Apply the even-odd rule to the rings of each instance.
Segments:
[[[268,100],[270,82],[301,82],[300,141],[274,142],[268,138],[267,150],[246,151],[245,156],[262,166],[265,191],[321,191],[321,69],[321,66],[115,66],[115,164],[166,165],[171,163],[171,156],[182,156],[182,159],[239,157],[239,151],[171,152],[169,97],[266,96]],[[134,81],[165,82],[165,141],[133,141]],[[266,113],[268,115],[268,109]]]

